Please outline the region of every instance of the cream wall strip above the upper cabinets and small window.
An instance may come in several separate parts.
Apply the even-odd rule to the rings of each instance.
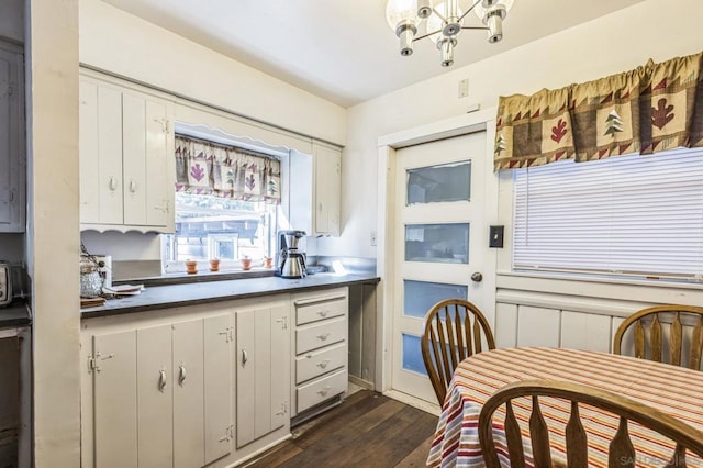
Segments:
[[[80,0],[80,62],[344,144],[346,111],[99,0]]]

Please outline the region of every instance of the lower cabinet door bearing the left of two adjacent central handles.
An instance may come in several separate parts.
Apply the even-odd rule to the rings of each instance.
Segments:
[[[171,325],[140,328],[136,334],[140,467],[172,467]]]

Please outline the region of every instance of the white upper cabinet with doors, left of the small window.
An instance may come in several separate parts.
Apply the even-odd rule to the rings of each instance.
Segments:
[[[80,78],[81,229],[174,232],[172,103]]]

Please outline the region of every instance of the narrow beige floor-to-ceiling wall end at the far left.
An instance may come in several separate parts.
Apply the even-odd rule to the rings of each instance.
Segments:
[[[78,0],[27,3],[34,463],[75,468],[80,466]]]

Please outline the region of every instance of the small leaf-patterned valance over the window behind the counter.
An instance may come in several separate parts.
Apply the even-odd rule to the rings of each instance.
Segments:
[[[176,136],[176,191],[281,202],[279,160],[232,146]]]

